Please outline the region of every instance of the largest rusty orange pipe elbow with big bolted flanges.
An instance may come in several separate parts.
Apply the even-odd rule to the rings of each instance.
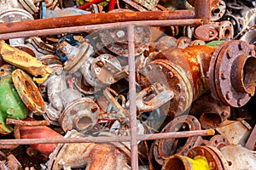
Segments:
[[[174,92],[167,111],[162,111],[168,116],[183,113],[210,90],[214,99],[233,107],[245,105],[254,94],[256,58],[247,42],[223,42],[217,48],[168,48],[146,62],[138,70],[137,82],[143,88],[160,82]]]

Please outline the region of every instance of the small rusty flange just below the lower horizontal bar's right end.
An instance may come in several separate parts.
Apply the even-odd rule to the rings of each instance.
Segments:
[[[217,148],[218,150],[226,145],[230,145],[229,139],[223,135],[216,134],[207,142],[208,146]]]

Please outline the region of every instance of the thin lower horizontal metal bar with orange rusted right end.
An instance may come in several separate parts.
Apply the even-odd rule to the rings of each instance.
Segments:
[[[212,136],[213,129],[183,131],[172,133],[153,133],[137,135],[137,140],[188,138],[190,136]],[[45,139],[0,139],[1,145],[9,144],[65,144],[65,143],[108,143],[108,142],[127,142],[131,136],[109,136],[109,137],[87,137],[87,138],[45,138]]]

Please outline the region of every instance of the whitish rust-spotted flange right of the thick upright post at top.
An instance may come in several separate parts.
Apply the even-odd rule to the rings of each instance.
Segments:
[[[223,0],[212,0],[211,20],[216,21],[224,16],[226,11],[226,3]]]

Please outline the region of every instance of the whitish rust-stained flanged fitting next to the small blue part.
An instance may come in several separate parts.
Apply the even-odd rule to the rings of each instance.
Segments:
[[[61,52],[67,55],[67,61],[64,63],[64,70],[74,73],[79,70],[84,61],[93,54],[93,48],[89,43],[83,42],[79,47],[73,47],[69,43],[63,41],[59,44],[58,48]]]

